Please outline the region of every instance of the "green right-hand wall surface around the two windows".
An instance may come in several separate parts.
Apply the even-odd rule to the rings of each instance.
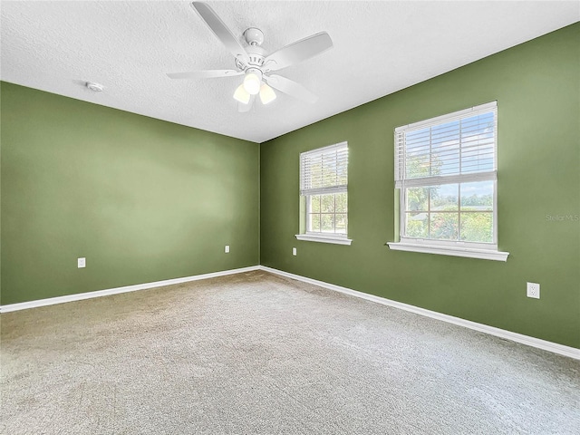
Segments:
[[[579,33],[573,24],[263,143],[261,264],[580,348]],[[507,262],[385,247],[395,237],[394,128],[494,100]],[[298,241],[299,153],[343,140],[353,245]],[[526,297],[527,281],[541,299]]]

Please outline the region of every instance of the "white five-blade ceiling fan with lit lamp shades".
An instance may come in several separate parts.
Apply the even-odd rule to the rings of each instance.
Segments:
[[[303,85],[281,75],[272,74],[272,72],[333,48],[333,41],[329,34],[326,32],[313,34],[266,55],[266,51],[260,47],[264,42],[264,34],[260,29],[250,27],[244,32],[248,45],[244,48],[209,5],[203,2],[193,2],[191,7],[208,24],[209,29],[226,46],[229,53],[234,55],[236,69],[168,73],[169,78],[209,79],[244,75],[244,81],[234,92],[234,99],[238,102],[238,111],[249,111],[256,100],[256,95],[259,95],[263,104],[273,102],[275,92],[272,88],[304,102],[314,103],[318,100],[318,97]]]

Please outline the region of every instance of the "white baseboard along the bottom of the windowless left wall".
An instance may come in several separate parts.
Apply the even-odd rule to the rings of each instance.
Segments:
[[[101,297],[108,295],[118,295],[120,293],[134,292],[137,290],[145,290],[148,288],[161,287],[164,285],[173,285],[181,283],[189,283],[189,281],[198,281],[199,279],[215,278],[217,276],[241,274],[258,270],[259,266],[241,267],[239,269],[222,270],[220,272],[212,272],[210,274],[184,276],[182,278],[165,279],[163,281],[154,281],[152,283],[125,285],[123,287],[109,288],[106,290],[96,290],[94,292],[78,293],[76,295],[65,295],[57,297],[49,297],[47,299],[38,299],[36,301],[21,302],[19,304],[8,304],[0,306],[0,313],[10,313],[11,311],[26,310],[28,308],[36,308],[39,306],[63,304],[65,302],[82,301],[84,299],[92,299],[93,297]]]

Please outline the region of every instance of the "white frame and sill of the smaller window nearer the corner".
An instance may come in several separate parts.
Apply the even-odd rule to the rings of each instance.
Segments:
[[[332,186],[332,187],[325,187],[325,188],[313,188],[313,189],[306,189],[304,187],[304,161],[308,158],[308,156],[315,156],[317,154],[323,154],[324,151],[330,150],[346,150],[346,185],[345,186]],[[338,156],[337,156],[338,158]],[[348,237],[348,142],[338,142],[333,145],[328,145],[322,148],[317,148],[314,150],[304,151],[300,153],[300,233],[296,234],[295,237],[298,240],[306,240],[306,241],[313,241],[313,242],[321,242],[321,243],[331,243],[336,245],[351,245],[353,240]],[[311,198],[316,195],[335,195],[339,193],[346,194],[347,200],[347,208],[346,213],[344,212],[336,212],[334,210],[334,232],[323,232],[323,231],[311,231],[309,228],[309,220],[311,213]],[[319,213],[322,216],[322,212]],[[336,233],[336,222],[335,216],[337,214],[346,214],[346,232],[344,233]]]

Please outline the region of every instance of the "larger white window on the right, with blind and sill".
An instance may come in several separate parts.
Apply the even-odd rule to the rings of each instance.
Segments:
[[[506,261],[498,252],[498,107],[395,129],[400,238],[391,249]]]

